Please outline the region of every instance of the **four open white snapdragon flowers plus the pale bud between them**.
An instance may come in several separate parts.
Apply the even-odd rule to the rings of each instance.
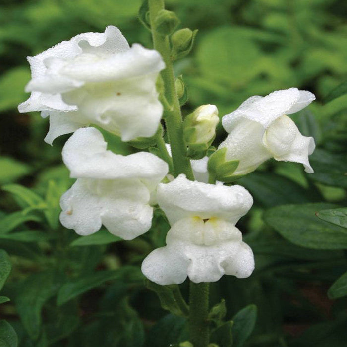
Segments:
[[[158,145],[167,162],[149,152],[117,155],[107,149],[101,132],[89,127],[96,125],[122,141],[157,133],[163,106],[156,82],[165,68],[157,51],[139,44],[129,47],[121,32],[109,26],[104,33],[77,35],[28,60],[32,79],[26,91],[31,96],[19,111],[41,111],[50,117],[45,138],[50,144],[73,132],[62,150],[63,161],[76,178],[60,200],[63,226],[89,235],[104,225],[130,240],[151,228],[153,206],[158,204],[171,229],[167,245],[143,261],[147,278],[168,285],[182,283],[187,276],[199,283],[218,281],[225,274],[251,275],[253,252],[235,224],[253,199],[239,185],[208,183],[208,153],[219,122],[215,105],[200,106],[181,124],[181,141],[195,181],[184,174],[174,178],[168,174],[170,144]],[[223,116],[229,133],[218,147],[226,151],[226,165],[220,165],[224,174],[250,173],[272,157],[301,163],[312,173],[308,156],[314,140],[302,136],[287,115],[314,99],[310,92],[290,88],[251,97]],[[231,167],[227,162],[236,169],[226,172]]]

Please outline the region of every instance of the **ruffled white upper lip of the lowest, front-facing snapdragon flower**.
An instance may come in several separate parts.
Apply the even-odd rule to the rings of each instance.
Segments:
[[[157,200],[171,225],[186,217],[217,217],[235,224],[251,208],[253,198],[239,186],[207,184],[180,174],[172,182],[159,184]]]

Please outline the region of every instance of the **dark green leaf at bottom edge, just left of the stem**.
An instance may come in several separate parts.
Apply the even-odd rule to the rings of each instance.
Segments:
[[[145,347],[164,347],[188,340],[187,320],[168,314],[160,319],[147,334]]]

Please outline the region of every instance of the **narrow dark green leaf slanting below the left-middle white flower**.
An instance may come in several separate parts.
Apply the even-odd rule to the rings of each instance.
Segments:
[[[106,281],[112,281],[120,278],[121,275],[122,273],[120,271],[99,271],[96,274],[78,278],[71,282],[65,283],[58,291],[57,305],[63,305],[67,301],[92,288],[102,285]]]

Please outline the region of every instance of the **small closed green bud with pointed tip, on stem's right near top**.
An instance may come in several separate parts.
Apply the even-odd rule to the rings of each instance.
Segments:
[[[171,36],[171,59],[177,60],[185,57],[193,48],[198,30],[188,28],[180,29]]]

